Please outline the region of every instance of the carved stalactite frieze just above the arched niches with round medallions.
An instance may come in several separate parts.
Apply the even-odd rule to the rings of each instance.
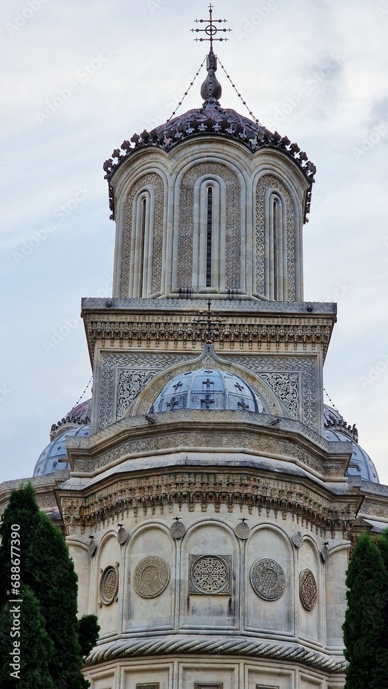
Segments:
[[[66,526],[94,526],[120,514],[139,510],[147,514],[159,508],[187,504],[194,511],[197,504],[203,510],[212,507],[218,512],[221,505],[228,511],[234,507],[247,508],[249,513],[265,511],[283,518],[290,513],[297,523],[346,535],[356,518],[358,500],[349,503],[349,495],[333,502],[301,483],[278,480],[269,476],[265,480],[256,473],[223,471],[174,471],[163,475],[143,475],[116,480],[108,488],[85,497],[60,496],[63,520]]]

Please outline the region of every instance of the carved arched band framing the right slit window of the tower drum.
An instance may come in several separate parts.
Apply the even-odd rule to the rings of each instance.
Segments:
[[[292,198],[285,185],[273,175],[265,175],[258,180],[256,186],[256,292],[269,296],[268,251],[265,238],[265,192],[267,189],[275,189],[286,205],[286,247],[287,252],[287,301],[296,299],[295,290],[295,218]],[[268,240],[267,240],[268,242]],[[275,243],[275,241],[274,241]],[[274,248],[274,257],[276,248]],[[283,296],[285,298],[285,296]]]

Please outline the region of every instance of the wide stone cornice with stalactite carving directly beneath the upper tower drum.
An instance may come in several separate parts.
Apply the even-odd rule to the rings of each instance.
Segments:
[[[90,357],[97,341],[103,347],[198,351],[207,341],[205,325],[196,322],[205,305],[196,299],[83,299]],[[325,358],[336,322],[334,304],[216,300],[216,308],[221,322],[212,337],[223,353],[319,350]]]

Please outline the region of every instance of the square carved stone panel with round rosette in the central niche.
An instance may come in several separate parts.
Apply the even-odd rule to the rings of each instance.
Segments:
[[[190,555],[190,593],[230,593],[230,555]]]

